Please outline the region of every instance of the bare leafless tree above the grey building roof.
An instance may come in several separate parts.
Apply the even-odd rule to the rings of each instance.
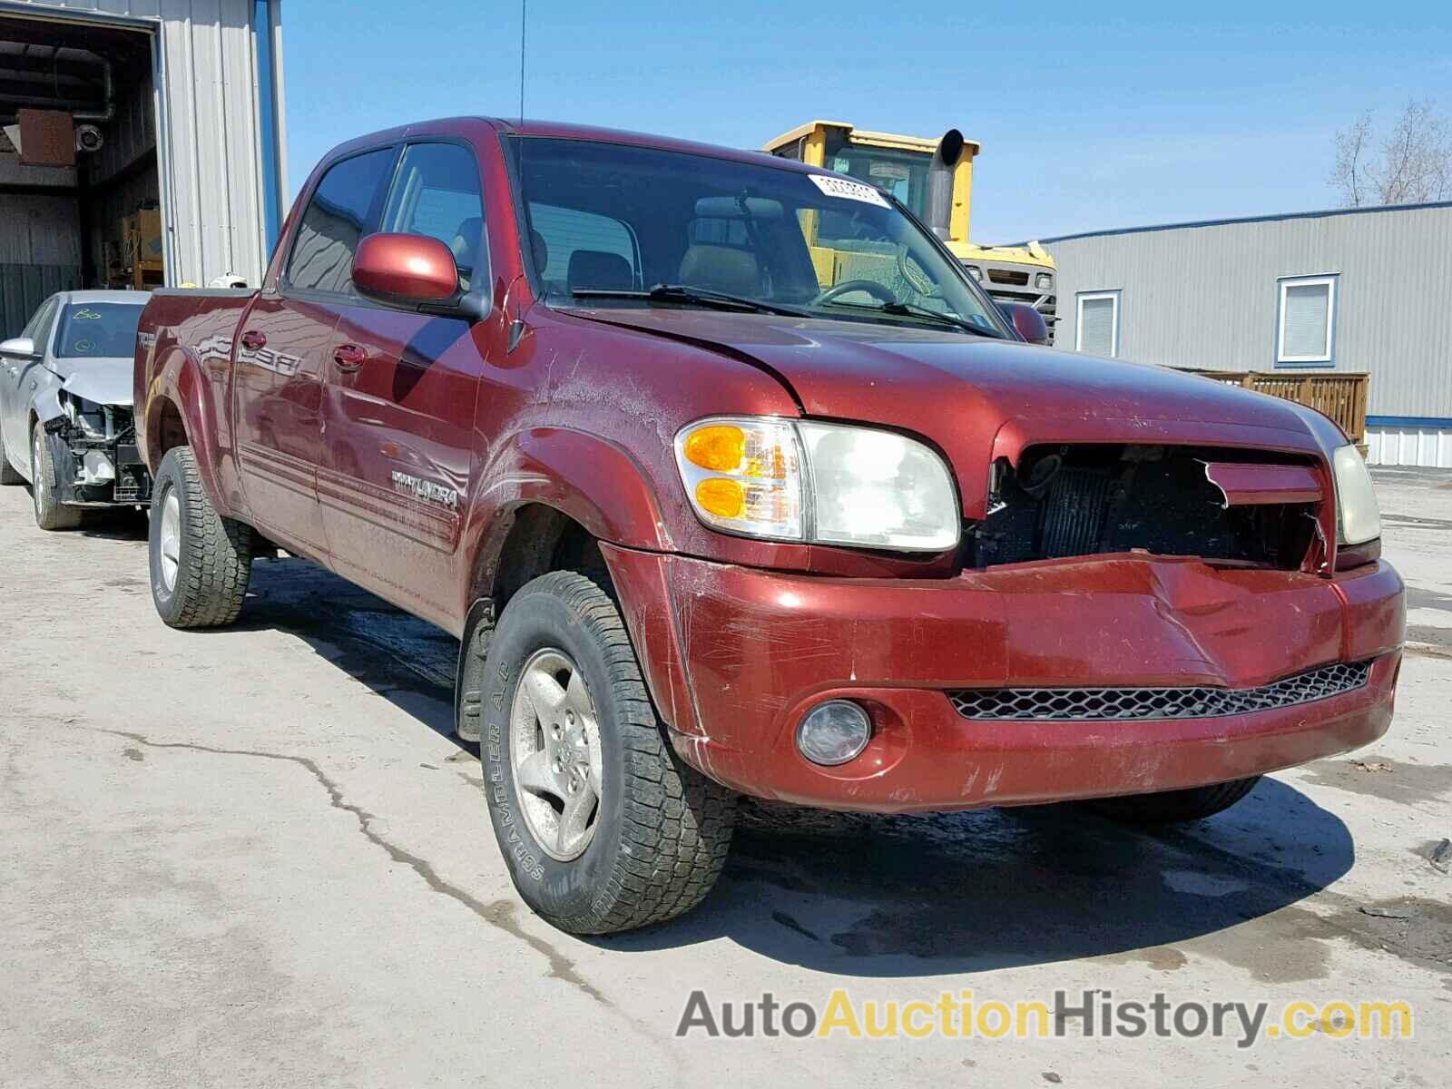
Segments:
[[[1372,115],[1336,134],[1327,182],[1345,208],[1416,205],[1452,197],[1452,123],[1427,102],[1411,100],[1372,150]]]

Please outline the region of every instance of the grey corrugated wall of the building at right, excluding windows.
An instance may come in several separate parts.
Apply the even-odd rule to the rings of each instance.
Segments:
[[[1119,290],[1119,357],[1275,370],[1281,276],[1339,273],[1334,369],[1371,373],[1371,415],[1452,417],[1452,208],[1368,209],[1045,240],[1056,343],[1079,292]],[[1304,373],[1304,372],[1291,372]]]

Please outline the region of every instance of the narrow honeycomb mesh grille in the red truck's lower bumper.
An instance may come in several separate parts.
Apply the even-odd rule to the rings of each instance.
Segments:
[[[1218,719],[1326,700],[1361,688],[1371,662],[1321,665],[1259,688],[960,688],[948,693],[964,719],[1122,722]]]

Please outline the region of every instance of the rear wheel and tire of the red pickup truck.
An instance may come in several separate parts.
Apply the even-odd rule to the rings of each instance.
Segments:
[[[170,627],[237,620],[253,568],[253,529],[224,518],[202,489],[190,446],[167,450],[152,488],[151,598]]]

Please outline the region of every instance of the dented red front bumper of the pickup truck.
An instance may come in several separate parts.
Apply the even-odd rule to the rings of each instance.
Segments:
[[[1404,604],[1385,563],[1122,553],[903,581],[604,552],[677,751],[759,797],[912,812],[1176,790],[1391,722]],[[831,698],[873,736],[819,767],[796,729]]]

